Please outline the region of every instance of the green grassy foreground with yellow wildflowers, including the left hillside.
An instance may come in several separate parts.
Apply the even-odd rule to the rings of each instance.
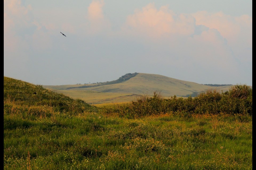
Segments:
[[[252,169],[252,116],[128,119],[4,77],[4,169]]]

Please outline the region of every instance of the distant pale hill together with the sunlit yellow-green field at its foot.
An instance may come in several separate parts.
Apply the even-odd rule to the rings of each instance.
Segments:
[[[88,86],[87,88],[84,88]],[[93,87],[91,87],[93,86]],[[196,96],[202,91],[215,89],[227,91],[231,86],[213,87],[194,82],[173,79],[156,74],[138,73],[134,77],[121,83],[115,84],[86,84],[86,85],[62,85],[62,86],[43,86],[63,93],[75,99],[82,99],[88,103],[116,103],[134,100],[134,94],[153,95],[155,91],[168,98],[171,96]],[[101,92],[101,93],[97,93]]]

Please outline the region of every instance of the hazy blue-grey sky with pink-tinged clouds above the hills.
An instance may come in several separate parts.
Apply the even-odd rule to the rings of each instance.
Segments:
[[[4,0],[3,16],[6,77],[67,85],[136,72],[252,86],[252,0]]]

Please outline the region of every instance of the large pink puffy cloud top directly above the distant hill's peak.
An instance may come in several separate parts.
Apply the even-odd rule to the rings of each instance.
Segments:
[[[195,19],[191,15],[177,14],[162,6],[159,10],[149,3],[127,17],[124,31],[146,37],[161,37],[166,34],[191,35],[195,30]]]

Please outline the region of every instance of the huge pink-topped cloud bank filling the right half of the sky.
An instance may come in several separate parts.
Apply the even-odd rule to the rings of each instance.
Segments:
[[[198,81],[210,80],[210,74],[216,74],[216,80],[217,75],[235,79],[233,75],[241,71],[241,62],[251,57],[247,52],[243,59],[239,58],[238,53],[243,50],[236,47],[250,40],[242,36],[250,32],[248,16],[231,17],[222,12],[209,14],[205,11],[197,15],[177,14],[167,6],[157,9],[153,3],[135,10],[123,25],[123,35],[145,47],[145,54],[137,60],[149,67],[170,68],[176,74],[198,75]],[[185,79],[195,81],[190,77]]]

